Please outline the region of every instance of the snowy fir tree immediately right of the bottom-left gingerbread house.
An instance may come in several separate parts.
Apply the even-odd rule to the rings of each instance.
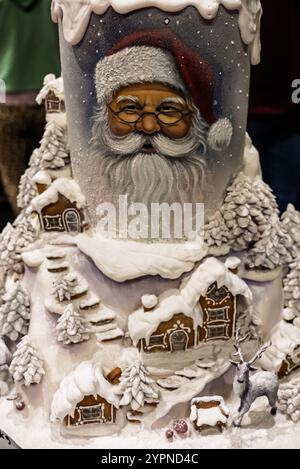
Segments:
[[[159,402],[156,384],[141,361],[134,362],[124,370],[118,394],[122,396],[120,405],[129,406],[132,411],[138,411],[145,404]]]

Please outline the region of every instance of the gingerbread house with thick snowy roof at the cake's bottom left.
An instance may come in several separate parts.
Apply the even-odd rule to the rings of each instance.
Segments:
[[[104,377],[99,364],[81,363],[62,381],[53,397],[51,420],[65,427],[114,426],[118,420],[119,398],[114,384]]]

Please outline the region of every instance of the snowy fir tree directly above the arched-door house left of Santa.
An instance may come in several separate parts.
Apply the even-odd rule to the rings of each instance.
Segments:
[[[69,163],[68,135],[66,126],[56,121],[47,123],[41,141],[42,169],[59,169]]]

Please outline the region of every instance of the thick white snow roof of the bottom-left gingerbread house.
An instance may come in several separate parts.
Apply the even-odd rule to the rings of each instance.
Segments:
[[[113,385],[104,378],[101,366],[87,361],[80,363],[61,382],[53,397],[51,421],[63,420],[67,415],[74,417],[77,404],[90,395],[101,396],[115,407],[119,406],[119,398],[114,394]]]

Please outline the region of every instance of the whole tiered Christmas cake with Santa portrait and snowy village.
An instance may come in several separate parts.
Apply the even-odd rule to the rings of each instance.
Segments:
[[[53,0],[63,78],[0,235],[0,427],[21,447],[300,433],[300,213],[246,133],[261,15]]]

